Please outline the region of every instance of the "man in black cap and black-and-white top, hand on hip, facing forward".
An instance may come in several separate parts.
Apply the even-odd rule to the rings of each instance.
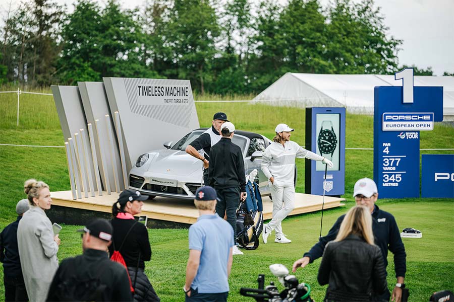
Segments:
[[[210,161],[210,150],[221,139],[220,127],[223,123],[228,122],[227,115],[223,112],[217,112],[213,116],[212,125],[199,137],[194,139],[185,149],[186,153],[203,162],[203,183],[208,184],[208,165]],[[202,155],[198,150],[202,150]]]

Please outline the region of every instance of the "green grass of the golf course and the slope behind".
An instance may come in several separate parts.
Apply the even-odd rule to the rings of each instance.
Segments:
[[[5,91],[6,89],[0,89]],[[11,90],[11,89],[8,89]],[[39,92],[50,93],[50,89]],[[0,94],[0,143],[28,145],[63,145],[64,137],[50,96],[26,95],[20,97],[20,120],[16,126],[17,95]],[[197,100],[247,100],[252,96],[195,96]],[[272,107],[247,103],[196,103],[201,126],[209,126],[212,115],[223,111],[239,129],[274,135],[276,124],[285,122],[296,129],[292,139],[304,145],[304,109]],[[373,147],[373,118],[347,114],[346,147]],[[421,148],[452,148],[454,128],[437,123],[433,131],[421,132]],[[452,153],[449,151],[423,151],[421,153]],[[304,192],[304,161],[297,160],[299,171],[298,192]],[[335,219],[352,206],[352,190],[361,177],[372,177],[373,152],[371,150],[346,151],[345,207],[327,210],[324,214],[323,233]],[[52,191],[69,190],[69,177],[64,148],[37,148],[0,145],[0,229],[15,219],[16,202],[25,197],[23,183],[28,178],[47,182]],[[454,202],[448,199],[379,200],[378,205],[396,217],[400,229],[413,227],[423,232],[422,239],[404,239],[407,250],[407,278],[411,301],[427,300],[433,291],[454,288]],[[290,267],[317,240],[320,212],[287,218],[283,222],[285,233],[293,240],[290,245],[272,241],[261,244],[256,251],[246,251],[235,256],[230,277],[232,301],[250,301],[238,293],[241,286],[254,287],[259,273],[266,282],[275,281],[268,270],[272,263]],[[79,226],[64,225],[59,259],[82,252],[81,242],[75,233]],[[149,276],[162,301],[181,301],[188,257],[187,230],[149,230],[152,260],[146,265]],[[320,301],[325,287],[316,281],[319,261],[297,271],[300,281],[313,287],[313,297]],[[395,283],[392,254],[389,255],[388,283]],[[0,269],[3,280],[3,268]],[[0,300],[4,297],[3,281],[0,282]]]

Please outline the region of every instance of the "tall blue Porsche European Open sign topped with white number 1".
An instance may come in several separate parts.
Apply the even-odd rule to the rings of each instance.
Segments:
[[[413,87],[412,68],[395,79],[374,89],[374,180],[380,198],[419,197],[419,131],[443,120],[443,87]]]

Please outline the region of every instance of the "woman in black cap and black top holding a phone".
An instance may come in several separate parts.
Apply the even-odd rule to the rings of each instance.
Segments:
[[[125,259],[135,301],[160,300],[144,272],[144,261],[151,259],[148,231],[145,225],[134,219],[134,215],[142,211],[143,200],[147,198],[139,191],[125,190],[112,205],[113,238],[109,253],[111,257],[113,251],[119,251]]]

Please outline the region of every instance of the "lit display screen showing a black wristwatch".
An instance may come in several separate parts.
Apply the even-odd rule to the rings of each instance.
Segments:
[[[341,115],[336,113],[317,113],[316,133],[317,150],[316,153],[327,158],[333,163],[328,171],[338,171],[340,166],[339,131],[341,125]],[[325,165],[318,161],[315,166],[316,171],[324,171]]]

